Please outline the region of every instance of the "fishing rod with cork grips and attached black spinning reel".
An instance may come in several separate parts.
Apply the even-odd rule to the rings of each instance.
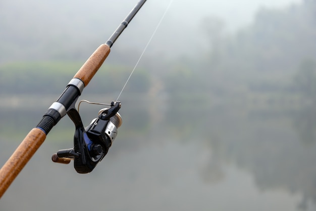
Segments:
[[[111,104],[107,104],[109,108],[101,109],[98,112],[98,116],[86,128],[83,126],[75,104],[82,94],[83,89],[88,85],[110,54],[110,49],[117,38],[145,2],[146,0],[140,0],[108,41],[94,51],[70,80],[62,95],[56,102],[51,104],[37,126],[27,134],[0,169],[0,198],[44,142],[49,131],[66,114],[76,127],[74,148],[59,150],[56,154],[52,155],[52,161],[69,163],[71,160],[74,160],[75,170],[80,174],[85,174],[91,172],[97,163],[106,156],[116,138],[117,130],[122,124],[122,118],[118,113],[122,105],[121,102],[112,101]]]

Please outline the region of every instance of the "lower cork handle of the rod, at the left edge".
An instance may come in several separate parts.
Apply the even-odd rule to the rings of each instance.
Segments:
[[[0,198],[44,142],[45,133],[32,129],[0,170]]]

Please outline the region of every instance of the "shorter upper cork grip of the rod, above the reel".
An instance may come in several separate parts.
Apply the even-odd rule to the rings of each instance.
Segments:
[[[108,45],[102,44],[99,46],[78,70],[74,78],[81,79],[86,87],[109,54],[110,47]]]

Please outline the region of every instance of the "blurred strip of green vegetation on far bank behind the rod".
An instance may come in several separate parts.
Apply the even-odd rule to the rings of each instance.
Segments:
[[[83,63],[39,61],[12,62],[0,65],[0,94],[60,94]],[[128,66],[104,64],[89,85],[89,93],[111,93],[122,89],[130,74]],[[146,92],[148,72],[139,69],[127,90]],[[100,86],[101,85],[101,86]]]

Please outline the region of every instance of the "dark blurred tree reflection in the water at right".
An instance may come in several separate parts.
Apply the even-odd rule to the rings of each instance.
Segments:
[[[227,174],[223,169],[233,164],[253,176],[260,192],[281,190],[298,194],[301,199],[293,210],[313,209],[316,204],[315,106],[271,107],[249,109],[221,105],[202,110],[206,114],[204,118],[191,116],[187,128],[201,132],[194,139],[203,147],[201,178],[205,183],[225,183]],[[180,113],[190,115],[189,110]],[[177,118],[176,112],[172,114]]]

